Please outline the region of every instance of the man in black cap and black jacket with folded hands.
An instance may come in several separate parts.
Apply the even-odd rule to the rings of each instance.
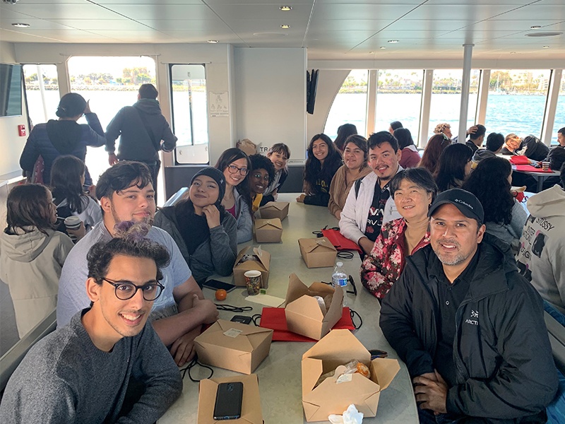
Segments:
[[[542,300],[462,189],[429,210],[420,249],[384,298],[381,329],[408,366],[421,423],[545,423],[557,391]]]

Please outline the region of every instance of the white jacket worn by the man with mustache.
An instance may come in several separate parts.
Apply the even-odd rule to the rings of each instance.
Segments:
[[[403,170],[403,167],[398,166],[398,171]],[[365,236],[365,229],[367,228],[367,218],[369,216],[369,209],[373,203],[373,196],[375,194],[375,185],[378,177],[374,172],[364,177],[359,186],[359,193],[355,196],[355,184],[351,187],[343,211],[341,212],[340,219],[340,232],[344,237],[356,243],[359,239]],[[393,219],[402,218],[400,213],[396,210],[396,205],[391,197],[386,201],[383,215],[383,223],[388,223]]]

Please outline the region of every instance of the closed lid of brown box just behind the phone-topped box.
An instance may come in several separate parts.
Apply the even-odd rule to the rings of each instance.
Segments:
[[[230,329],[236,329],[241,333],[236,337],[226,336],[224,333]],[[273,330],[262,327],[240,324],[239,322],[218,319],[209,329],[204,331],[194,341],[214,346],[224,346],[242,352],[252,352]]]

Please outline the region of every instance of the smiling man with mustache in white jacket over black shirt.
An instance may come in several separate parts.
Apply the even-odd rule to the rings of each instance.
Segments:
[[[400,218],[388,183],[403,168],[398,164],[402,151],[388,131],[371,134],[369,160],[373,172],[357,179],[345,201],[340,218],[340,232],[356,242],[366,254],[371,253],[381,225]]]

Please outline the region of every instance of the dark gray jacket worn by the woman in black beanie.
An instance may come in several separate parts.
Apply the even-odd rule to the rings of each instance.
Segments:
[[[177,223],[174,206],[160,209],[155,214],[153,225],[171,235],[199,285],[214,273],[220,276],[229,276],[232,273],[237,257],[237,223],[229,212],[222,214],[220,225],[210,228],[210,237],[199,245],[193,254],[189,254],[179,232],[178,225],[182,223]]]

